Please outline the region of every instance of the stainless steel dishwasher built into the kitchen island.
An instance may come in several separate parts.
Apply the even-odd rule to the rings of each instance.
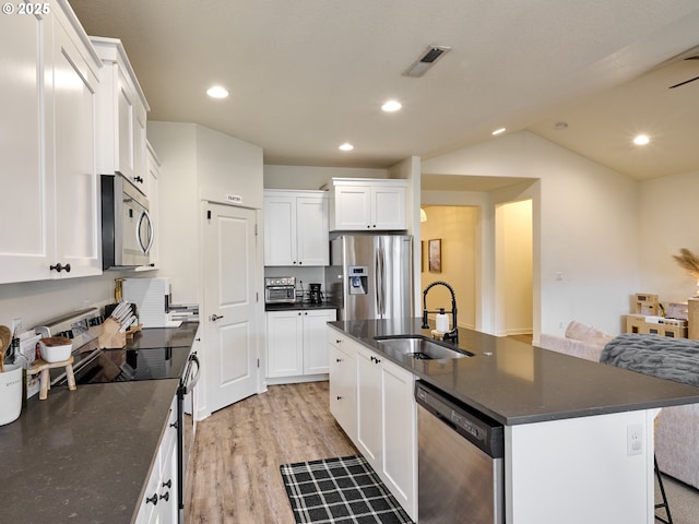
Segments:
[[[419,524],[502,524],[502,426],[417,381]]]

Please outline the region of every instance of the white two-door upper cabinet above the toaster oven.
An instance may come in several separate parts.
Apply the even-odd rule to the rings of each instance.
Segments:
[[[330,263],[325,191],[265,191],[263,213],[264,265]]]

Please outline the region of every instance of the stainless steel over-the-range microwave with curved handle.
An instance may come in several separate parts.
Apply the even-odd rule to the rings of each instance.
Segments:
[[[121,175],[102,175],[102,266],[149,265],[153,224],[149,201]]]

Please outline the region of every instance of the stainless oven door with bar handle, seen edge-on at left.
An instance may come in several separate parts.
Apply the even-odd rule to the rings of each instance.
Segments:
[[[187,367],[182,374],[178,390],[178,414],[177,414],[177,443],[178,443],[178,503],[179,522],[185,522],[185,502],[187,498],[188,474],[187,469],[192,455],[194,436],[197,433],[197,383],[201,376],[201,366],[197,353],[189,356]]]

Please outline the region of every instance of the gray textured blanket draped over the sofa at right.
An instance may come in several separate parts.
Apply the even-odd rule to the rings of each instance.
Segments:
[[[604,346],[600,362],[699,386],[699,341],[628,333]]]

